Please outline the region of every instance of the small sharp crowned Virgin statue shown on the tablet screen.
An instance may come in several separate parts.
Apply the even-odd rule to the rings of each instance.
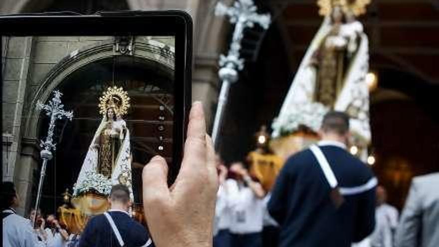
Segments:
[[[113,185],[124,184],[129,188],[133,201],[130,132],[122,119],[130,107],[129,100],[128,93],[122,87],[116,86],[109,87],[99,98],[102,120],[91,140],[73,187],[73,197],[84,198],[88,194],[106,197]],[[91,208],[95,206],[88,205],[89,201],[77,199],[72,202],[81,211],[94,213]]]

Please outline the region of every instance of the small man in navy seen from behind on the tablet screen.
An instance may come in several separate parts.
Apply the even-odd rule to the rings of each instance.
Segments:
[[[145,227],[128,215],[131,205],[128,187],[113,186],[109,200],[111,209],[90,219],[79,247],[152,247]]]

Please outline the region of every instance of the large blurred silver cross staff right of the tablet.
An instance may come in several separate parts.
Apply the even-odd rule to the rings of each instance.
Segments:
[[[222,85],[219,93],[217,113],[215,114],[214,128],[212,130],[212,139],[216,147],[229,86],[238,80],[237,70],[242,70],[244,67],[244,59],[239,58],[244,28],[253,27],[256,23],[262,28],[267,29],[271,22],[270,14],[258,14],[256,11],[257,7],[254,5],[253,0],[237,0],[231,7],[218,2],[215,7],[216,15],[226,15],[231,23],[235,23],[227,56],[221,54],[219,57],[219,66],[221,66],[219,78],[222,80]]]

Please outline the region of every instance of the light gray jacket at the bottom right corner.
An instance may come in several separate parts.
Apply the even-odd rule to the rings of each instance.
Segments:
[[[439,246],[439,173],[413,179],[397,229],[396,246]]]

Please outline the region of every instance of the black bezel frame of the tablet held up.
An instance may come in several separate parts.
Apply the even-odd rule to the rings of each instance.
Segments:
[[[192,28],[191,16],[180,10],[111,11],[93,15],[65,13],[0,15],[0,37],[175,36],[173,164],[168,164],[170,185],[180,170],[192,101]],[[0,39],[0,52],[1,48]],[[0,78],[3,78],[1,70]],[[2,87],[0,90],[2,97]]]

